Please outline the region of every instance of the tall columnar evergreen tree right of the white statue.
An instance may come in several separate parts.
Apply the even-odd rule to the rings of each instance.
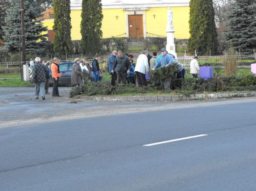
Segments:
[[[188,49],[200,54],[216,52],[218,41],[213,0],[190,0]]]

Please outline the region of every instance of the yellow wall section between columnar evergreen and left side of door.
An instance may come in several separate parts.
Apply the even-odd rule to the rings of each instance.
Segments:
[[[126,32],[125,11],[120,9],[103,9],[103,20],[101,30],[103,38],[117,36]],[[116,16],[118,18],[116,19]],[[126,34],[118,37],[126,37]]]

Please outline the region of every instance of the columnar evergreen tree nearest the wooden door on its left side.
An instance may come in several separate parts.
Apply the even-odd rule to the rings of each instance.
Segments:
[[[82,0],[81,18],[80,50],[84,54],[95,55],[101,50],[101,0]]]

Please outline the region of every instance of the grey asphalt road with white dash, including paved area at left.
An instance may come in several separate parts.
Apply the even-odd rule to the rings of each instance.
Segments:
[[[15,94],[25,98],[21,92]],[[18,120],[3,112],[7,97],[0,190],[256,190],[254,97],[78,104],[17,98]],[[55,115],[43,120],[44,109]]]

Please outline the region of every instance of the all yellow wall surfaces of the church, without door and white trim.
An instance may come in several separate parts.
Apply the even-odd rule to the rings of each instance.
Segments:
[[[188,39],[189,34],[189,7],[171,7],[173,11],[173,27],[175,30],[174,37],[177,39]],[[167,23],[167,7],[149,8],[146,10],[146,32],[166,36],[166,23]],[[118,9],[103,9],[102,32],[103,38],[117,36],[126,32],[126,16],[125,11],[121,8]],[[154,19],[154,16],[155,19]],[[71,39],[80,40],[80,23],[81,23],[81,10],[71,10]],[[118,19],[116,19],[118,16]],[[44,26],[48,29],[53,28],[53,21],[43,21]],[[147,34],[147,36],[154,36]],[[122,35],[119,37],[126,37]]]

